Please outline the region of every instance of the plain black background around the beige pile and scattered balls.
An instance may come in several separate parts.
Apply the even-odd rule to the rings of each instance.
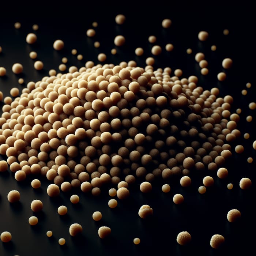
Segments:
[[[249,1],[240,4],[227,1],[179,1],[164,3],[157,2],[69,2],[50,3],[41,2],[33,4],[7,3],[0,7],[0,67],[7,69],[7,75],[0,78],[0,90],[5,96],[9,95],[12,87],[24,88],[29,81],[38,81],[48,75],[51,68],[58,70],[62,57],[68,58],[67,67],[76,65],[82,67],[87,60],[98,64],[97,55],[106,53],[105,63],[119,64],[121,61],[135,60],[138,66],[144,67],[145,59],[152,56],[148,43],[149,35],[156,35],[157,42],[163,48],[160,56],[155,57],[154,68],[171,67],[173,70],[181,68],[183,77],[197,75],[199,86],[205,90],[212,87],[220,89],[220,97],[230,94],[234,97],[231,111],[242,109],[238,129],[241,134],[250,133],[249,140],[243,136],[232,144],[232,158],[225,165],[229,170],[229,177],[221,180],[216,173],[206,171],[198,173],[189,188],[182,188],[178,179],[171,180],[171,191],[163,193],[161,185],[166,181],[159,180],[153,183],[153,191],[145,195],[139,191],[139,183],[131,187],[129,199],[118,200],[115,209],[108,207],[108,188],[102,189],[101,196],[84,195],[79,191],[70,193],[61,192],[57,199],[50,198],[46,193],[49,181],[41,179],[40,189],[33,189],[28,177],[24,182],[17,182],[10,171],[0,175],[0,232],[10,231],[12,241],[0,243],[0,255],[153,255],[153,253],[168,253],[169,255],[251,255],[254,240],[251,235],[255,230],[253,205],[255,204],[255,162],[247,163],[247,157],[255,158],[252,142],[256,139],[255,122],[247,123],[248,114],[254,117],[253,110],[249,110],[249,102],[255,101],[255,79],[253,72],[255,52],[253,45],[253,32],[255,20],[253,7]],[[124,14],[126,21],[117,25],[114,17]],[[172,20],[169,29],[163,29],[161,22],[164,18]],[[86,30],[92,28],[92,22],[97,21],[94,38],[86,36]],[[22,27],[14,29],[14,23],[20,22]],[[33,31],[32,25],[38,24],[39,30]],[[229,29],[229,35],[223,35],[223,30]],[[197,34],[200,30],[209,32],[206,42],[200,42]],[[26,43],[26,35],[30,32],[37,34],[38,40],[34,45]],[[113,56],[110,50],[114,48],[113,39],[123,34],[126,38],[124,46],[117,48]],[[56,39],[63,39],[65,48],[57,52],[52,44]],[[254,40],[254,41],[253,41]],[[94,41],[101,46],[96,49]],[[164,46],[167,43],[174,45],[174,50],[167,53]],[[217,45],[212,52],[211,45]],[[143,47],[144,54],[135,56],[136,47]],[[76,48],[78,54],[83,54],[83,60],[78,61],[72,56],[71,49]],[[192,48],[191,55],[186,53]],[[29,52],[35,50],[38,60],[44,62],[44,69],[36,71],[33,67],[35,60],[29,58]],[[200,68],[194,57],[196,52],[204,52],[208,61],[209,74],[200,75]],[[227,79],[223,82],[217,80],[218,72],[224,71],[221,62],[224,58],[233,59],[233,67],[226,70]],[[12,64],[20,62],[24,71],[15,75],[11,71]],[[24,78],[25,84],[18,84],[18,78]],[[247,89],[248,94],[243,96],[242,89],[246,83],[251,82],[252,88]],[[1,103],[3,105],[3,103]],[[255,110],[254,110],[255,111]],[[234,146],[243,144],[245,151],[238,155]],[[5,159],[1,156],[1,159]],[[214,187],[208,188],[206,194],[200,195],[197,188],[202,185],[206,175],[214,177]],[[251,178],[253,185],[244,191],[239,187],[242,177]],[[233,183],[234,188],[228,190],[226,185]],[[7,193],[17,189],[21,198],[18,204],[7,201]],[[80,202],[71,204],[70,195],[77,193]],[[184,195],[185,201],[175,205],[172,197],[175,193]],[[33,213],[30,203],[40,199],[44,208],[40,213]],[[57,207],[64,204],[68,207],[67,216],[59,216]],[[139,207],[149,204],[154,211],[152,217],[141,219],[138,216]],[[229,223],[226,219],[227,211],[237,208],[242,217],[236,223]],[[103,218],[94,222],[91,215],[94,211],[101,211]],[[30,226],[28,219],[36,215],[39,223]],[[83,226],[82,235],[71,237],[68,228],[71,223],[78,222]],[[112,234],[106,240],[98,237],[99,226],[111,227]],[[53,237],[46,237],[46,231],[52,230]],[[192,241],[187,246],[180,246],[176,242],[180,231],[188,231]],[[225,243],[219,249],[210,246],[213,234],[222,234]],[[66,244],[60,246],[58,239],[64,237]],[[133,238],[139,237],[141,243],[133,244]]]

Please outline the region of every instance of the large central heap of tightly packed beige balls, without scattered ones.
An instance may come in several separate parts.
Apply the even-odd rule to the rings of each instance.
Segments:
[[[63,191],[98,195],[120,181],[127,191],[131,177],[151,186],[192,169],[217,171],[230,157],[227,138],[239,136],[230,95],[169,67],[86,66],[29,82],[3,106],[0,153],[18,181],[41,173]]]

